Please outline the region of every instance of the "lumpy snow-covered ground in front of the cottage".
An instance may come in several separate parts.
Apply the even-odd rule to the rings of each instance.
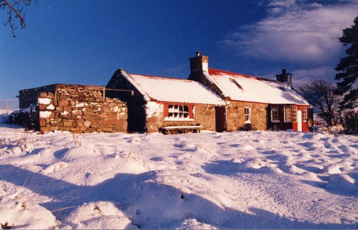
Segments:
[[[0,223],[14,228],[358,228],[357,136],[1,124],[0,144]]]

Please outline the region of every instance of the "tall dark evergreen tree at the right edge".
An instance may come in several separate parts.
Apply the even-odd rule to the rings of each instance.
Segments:
[[[358,17],[354,20],[351,28],[343,29],[343,36],[339,38],[345,46],[351,45],[347,50],[348,55],[341,58],[335,70],[337,83],[336,93],[344,95],[341,102],[342,109],[351,109],[358,104],[358,86],[354,86],[358,78]]]

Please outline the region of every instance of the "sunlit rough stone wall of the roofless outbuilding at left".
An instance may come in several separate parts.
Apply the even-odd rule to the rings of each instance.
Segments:
[[[103,86],[56,85],[38,97],[39,130],[127,132],[127,104],[104,95]]]

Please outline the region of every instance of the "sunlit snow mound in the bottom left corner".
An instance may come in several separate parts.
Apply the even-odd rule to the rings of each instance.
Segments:
[[[0,223],[13,229],[53,229],[59,226],[55,216],[38,204],[2,199]]]

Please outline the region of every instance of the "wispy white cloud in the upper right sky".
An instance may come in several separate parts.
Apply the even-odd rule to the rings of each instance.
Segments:
[[[259,59],[326,63],[337,59],[338,37],[358,16],[358,2],[322,5],[298,0],[271,0],[268,16],[228,34],[220,42]]]

